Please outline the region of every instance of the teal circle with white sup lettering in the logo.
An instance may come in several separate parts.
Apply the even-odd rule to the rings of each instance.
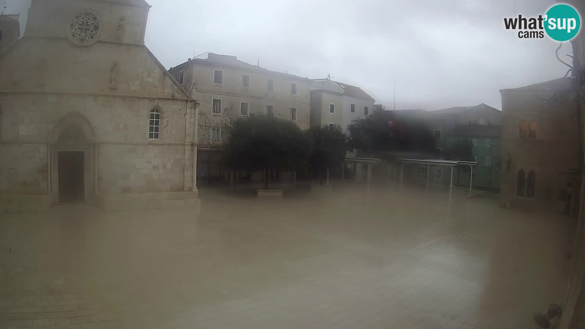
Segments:
[[[569,5],[554,5],[546,12],[545,31],[557,41],[568,41],[579,33],[581,18]]]

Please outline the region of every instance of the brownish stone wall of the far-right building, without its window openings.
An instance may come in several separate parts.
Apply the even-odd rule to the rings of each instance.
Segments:
[[[543,91],[546,92],[546,91]],[[556,209],[569,173],[579,167],[579,133],[573,98],[542,101],[534,92],[502,95],[501,204]],[[536,138],[519,138],[520,121],[536,121]],[[534,198],[516,196],[519,170],[536,173]]]

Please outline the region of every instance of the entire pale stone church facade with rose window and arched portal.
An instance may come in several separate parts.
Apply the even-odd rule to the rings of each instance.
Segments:
[[[198,103],[144,46],[149,9],[32,1],[0,57],[0,213],[198,207]]]

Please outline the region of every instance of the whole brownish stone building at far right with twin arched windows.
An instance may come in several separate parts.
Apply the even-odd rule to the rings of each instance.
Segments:
[[[578,211],[581,152],[571,80],[500,91],[502,205]]]

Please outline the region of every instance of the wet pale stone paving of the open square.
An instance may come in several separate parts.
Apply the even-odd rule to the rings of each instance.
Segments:
[[[495,198],[201,191],[185,210],[0,219],[0,327],[534,328],[568,220]]]

